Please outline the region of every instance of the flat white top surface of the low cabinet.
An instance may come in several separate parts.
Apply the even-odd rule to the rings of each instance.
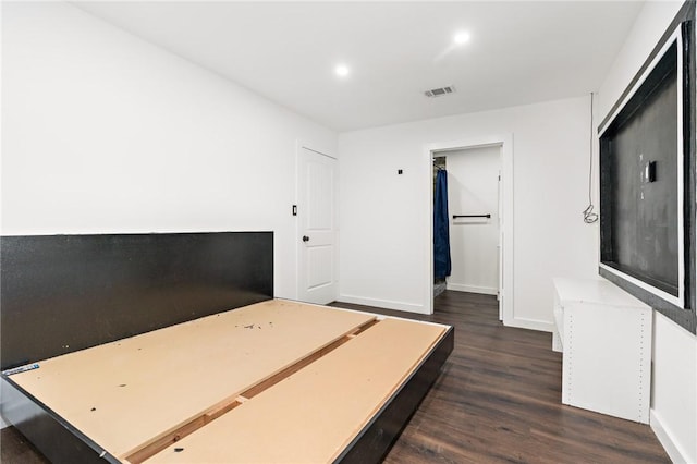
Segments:
[[[629,295],[606,279],[553,279],[559,301],[564,303],[592,303],[606,306],[650,309],[650,306]]]

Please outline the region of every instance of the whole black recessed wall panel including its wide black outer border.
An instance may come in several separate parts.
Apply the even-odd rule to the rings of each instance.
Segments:
[[[695,21],[695,2],[684,2],[598,129],[600,260],[604,265],[598,271],[692,333],[697,332]],[[676,30],[682,40],[675,41]],[[660,62],[655,66],[657,59]],[[647,182],[641,173],[652,160],[657,161],[656,182]],[[682,178],[677,163],[682,163]],[[682,210],[677,209],[678,184],[683,187]],[[677,242],[681,215],[682,255]],[[681,262],[682,279],[677,273]],[[674,304],[626,276],[673,295],[682,288],[684,297],[680,305]]]

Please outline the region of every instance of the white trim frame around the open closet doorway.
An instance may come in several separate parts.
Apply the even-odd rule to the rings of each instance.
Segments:
[[[427,144],[424,148],[424,163],[421,168],[424,182],[428,182],[428,200],[425,208],[423,223],[426,224],[425,256],[428,262],[424,266],[424,294],[426,301],[424,308],[427,314],[433,314],[433,152],[455,151],[468,148],[484,148],[491,146],[501,147],[501,191],[503,211],[500,211],[502,223],[500,233],[503,234],[500,260],[502,260],[502,280],[499,282],[501,289],[499,300],[499,319],[505,326],[513,325],[513,134],[499,134],[488,136],[475,136],[470,138],[455,139],[449,142]]]

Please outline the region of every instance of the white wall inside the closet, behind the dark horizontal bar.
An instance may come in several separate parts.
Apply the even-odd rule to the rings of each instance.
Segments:
[[[448,290],[496,295],[499,289],[499,172],[501,147],[448,151],[452,272]],[[458,218],[453,215],[486,215]]]

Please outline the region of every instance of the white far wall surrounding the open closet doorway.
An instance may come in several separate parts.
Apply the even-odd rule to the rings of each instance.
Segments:
[[[551,330],[552,278],[597,273],[597,229],[580,215],[588,203],[589,108],[582,97],[340,134],[339,298],[425,312],[431,188],[425,147],[513,134],[513,325]]]

